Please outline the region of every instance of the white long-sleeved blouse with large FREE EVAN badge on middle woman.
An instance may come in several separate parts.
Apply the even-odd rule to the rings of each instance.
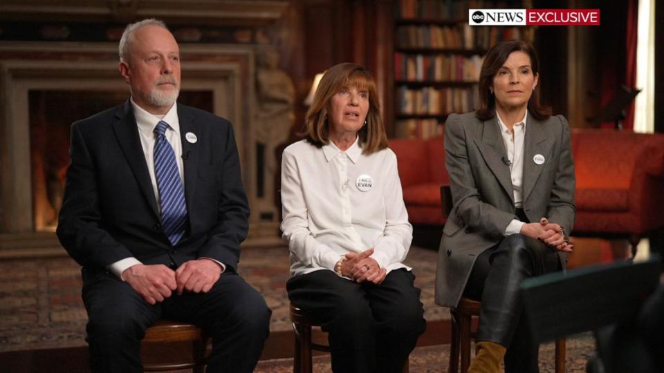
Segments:
[[[369,186],[370,184],[370,186]],[[345,254],[374,248],[380,267],[402,264],[412,240],[396,155],[347,151],[333,142],[317,148],[302,140],[282,157],[283,238],[291,251],[291,276],[334,270]]]

